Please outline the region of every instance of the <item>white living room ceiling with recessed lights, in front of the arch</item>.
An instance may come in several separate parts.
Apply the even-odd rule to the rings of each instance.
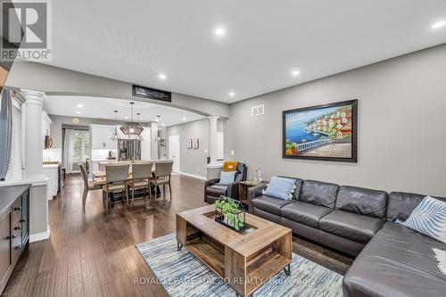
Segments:
[[[444,0],[58,0],[53,10],[50,64],[225,103],[446,42],[446,27],[432,29]]]

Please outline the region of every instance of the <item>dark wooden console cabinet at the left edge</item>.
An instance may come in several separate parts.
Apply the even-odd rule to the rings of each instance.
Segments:
[[[0,294],[29,249],[29,185],[0,186]]]

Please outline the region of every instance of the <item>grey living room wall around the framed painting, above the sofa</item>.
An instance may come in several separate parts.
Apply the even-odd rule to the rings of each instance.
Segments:
[[[302,70],[301,75],[305,75]],[[359,99],[359,161],[282,159],[282,111]],[[265,104],[265,115],[251,107]],[[231,105],[225,156],[286,175],[446,196],[446,45]],[[231,156],[231,159],[232,156]]]

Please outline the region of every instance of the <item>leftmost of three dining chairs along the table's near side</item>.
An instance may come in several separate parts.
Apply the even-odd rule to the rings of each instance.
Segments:
[[[122,200],[124,201],[124,194],[126,194],[128,205],[128,169],[130,165],[108,165],[105,166],[105,180],[107,184],[103,186],[103,199],[112,193],[122,193]],[[105,206],[108,209],[108,203]]]

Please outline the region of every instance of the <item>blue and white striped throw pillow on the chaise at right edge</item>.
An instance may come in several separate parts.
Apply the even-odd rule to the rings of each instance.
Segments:
[[[396,222],[446,243],[446,202],[427,196],[410,213],[409,219]]]

